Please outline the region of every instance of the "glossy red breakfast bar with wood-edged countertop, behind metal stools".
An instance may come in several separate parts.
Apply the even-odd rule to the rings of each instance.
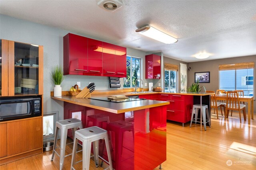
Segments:
[[[84,127],[93,125],[92,118],[107,117],[99,127],[108,130],[112,147],[112,164],[116,170],[151,170],[166,161],[166,105],[168,101],[138,99],[110,102],[73,96],[51,97],[64,101],[64,119],[81,111]],[[90,119],[88,119],[88,117]],[[72,136],[70,136],[72,137]],[[99,155],[108,160],[104,142],[99,142]]]

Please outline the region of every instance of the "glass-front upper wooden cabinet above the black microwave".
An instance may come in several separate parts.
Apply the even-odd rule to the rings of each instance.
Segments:
[[[2,96],[43,94],[43,46],[1,40],[1,54]]]

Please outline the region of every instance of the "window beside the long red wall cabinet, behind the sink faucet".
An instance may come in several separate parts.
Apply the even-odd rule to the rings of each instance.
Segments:
[[[141,59],[137,57],[126,56],[126,77],[124,77],[124,88],[135,87],[135,80],[141,78]],[[137,87],[140,87],[137,81]]]

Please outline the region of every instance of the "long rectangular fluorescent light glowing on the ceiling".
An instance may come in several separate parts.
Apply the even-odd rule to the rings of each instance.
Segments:
[[[172,36],[169,36],[168,34],[165,34],[149,25],[137,29],[136,32],[166,44],[178,42],[176,38],[173,38]]]

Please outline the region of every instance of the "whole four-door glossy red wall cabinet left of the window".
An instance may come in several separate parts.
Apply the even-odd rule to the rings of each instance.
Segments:
[[[69,33],[63,50],[64,75],[126,77],[126,47]]]

